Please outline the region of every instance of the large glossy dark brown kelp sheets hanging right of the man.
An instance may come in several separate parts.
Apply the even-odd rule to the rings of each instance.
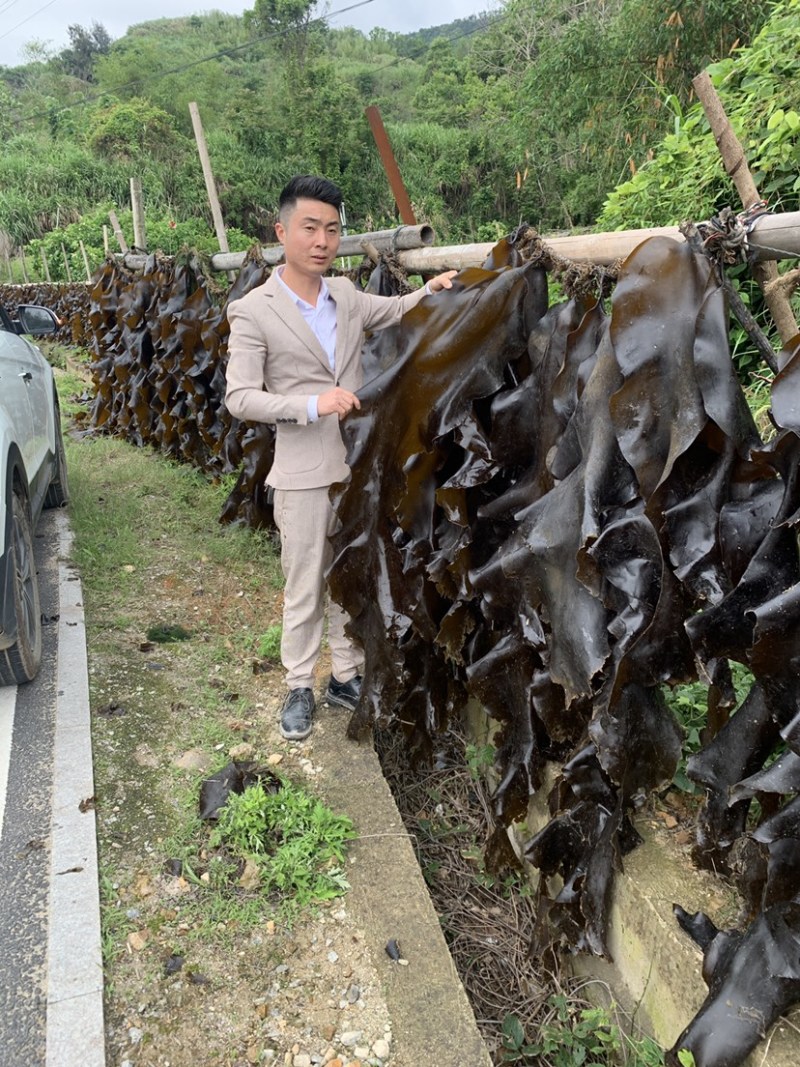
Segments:
[[[352,476],[332,491],[330,577],[366,652],[350,733],[395,718],[430,751],[476,698],[500,723],[501,827],[525,815],[558,757],[551,819],[526,854],[543,875],[534,941],[603,955],[613,872],[637,842],[630,813],[681,753],[661,687],[701,670],[716,737],[689,767],[707,791],[695,855],[747,869],[759,925],[740,950],[729,938],[725,958],[748,959],[773,936],[770,908],[793,926],[783,905],[800,891],[794,806],[771,817],[767,806],[747,831],[750,797],[763,797],[751,776],[800,737],[800,357],[784,353],[773,414],[785,432],[764,446],[704,257],[644,242],[609,315],[586,297],[545,312],[530,265],[499,259],[370,341],[374,377],[342,425]],[[730,659],[755,683],[729,721]],[[800,773],[769,780],[791,793]],[[761,1020],[796,997],[791,967],[759,985]],[[745,1010],[747,972],[715,972],[708,1003],[733,987]],[[717,1010],[681,1038],[698,1067],[739,1063],[758,1038],[761,1024],[740,1028],[720,1052]]]

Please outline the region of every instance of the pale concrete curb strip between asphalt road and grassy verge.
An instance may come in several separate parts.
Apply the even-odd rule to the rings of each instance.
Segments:
[[[94,778],[80,579],[59,534],[59,663],[53,744],[46,1067],[105,1067]]]

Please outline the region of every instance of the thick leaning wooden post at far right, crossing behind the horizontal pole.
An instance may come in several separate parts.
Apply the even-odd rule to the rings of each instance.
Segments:
[[[708,125],[711,127],[725,171],[733,178],[743,207],[747,209],[761,203],[758,190],[745,158],[745,152],[734,133],[710,77],[704,70],[692,80],[692,85],[703,105],[703,111],[705,111]],[[769,286],[769,283],[774,282],[778,277],[778,266],[773,262],[753,264],[753,277],[765,290],[764,298],[774,319],[778,333],[781,335],[782,343],[787,345],[798,333],[798,325],[786,293],[777,286]]]

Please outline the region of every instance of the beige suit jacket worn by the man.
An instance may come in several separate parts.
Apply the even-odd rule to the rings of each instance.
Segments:
[[[335,376],[324,349],[275,273],[228,307],[225,403],[236,418],[274,423],[275,459],[267,483],[319,489],[349,474],[336,415],[308,420],[308,398],[334,385],[355,393],[363,383],[365,330],[399,322],[425,296],[373,297],[345,277],[325,280],[336,302]]]

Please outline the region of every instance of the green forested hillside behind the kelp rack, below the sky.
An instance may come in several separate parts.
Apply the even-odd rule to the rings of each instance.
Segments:
[[[486,16],[365,36],[330,28],[310,0],[255,0],[242,18],[160,19],[117,41],[74,26],[60,53],[0,67],[0,241],[35,258],[44,240],[54,277],[62,242],[76,270],[79,240],[97,262],[108,210],[126,224],[138,175],[150,246],[215,246],[191,100],[231,248],[272,239],[278,191],[298,172],[342,186],[352,229],[397,223],[370,103],[439,241],[489,240],[523,220],[591,226],[686,114],[691,78],[746,48],[774,6],[506,0]],[[797,23],[797,0],[779,6]],[[797,52],[785,60],[796,66]],[[786,94],[797,83],[786,77]]]

